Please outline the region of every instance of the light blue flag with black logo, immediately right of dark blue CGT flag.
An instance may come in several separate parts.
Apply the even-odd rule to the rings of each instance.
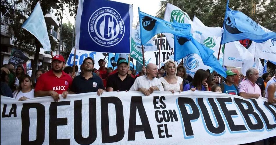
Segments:
[[[171,33],[180,37],[190,35],[191,25],[171,23],[162,19],[153,17],[139,10],[141,44],[146,44],[154,35],[159,33]]]

